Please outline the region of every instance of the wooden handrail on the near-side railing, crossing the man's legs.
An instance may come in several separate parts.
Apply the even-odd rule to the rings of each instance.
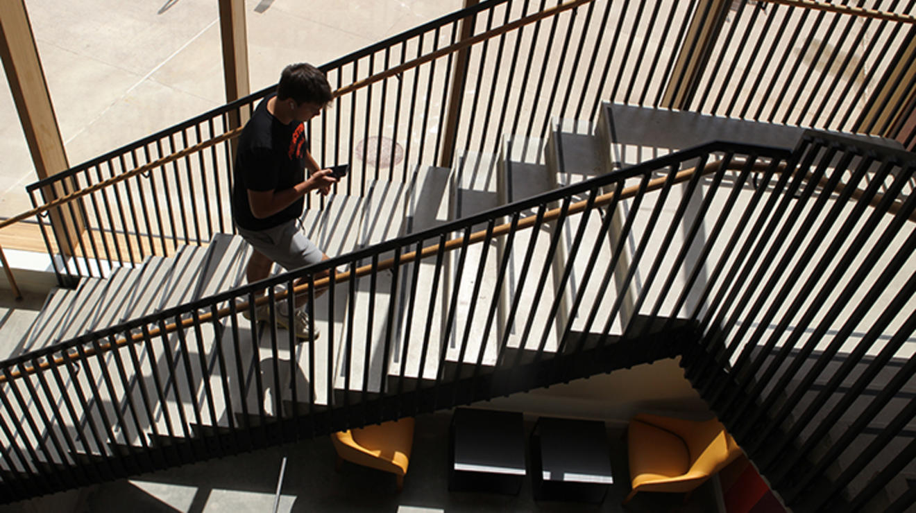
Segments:
[[[708,175],[708,174],[714,173],[719,170],[719,167],[721,166],[721,164],[722,164],[722,161],[714,161],[714,162],[707,163],[700,170],[700,173],[701,175]],[[747,164],[746,161],[742,159],[734,159],[729,164],[728,169],[740,170],[744,166],[746,166],[746,164]],[[764,163],[761,163],[761,162],[756,162],[754,164],[755,171],[764,171],[768,167],[769,165],[765,165]],[[780,165],[780,172],[782,170],[784,170],[784,165]],[[677,183],[685,182],[691,179],[694,172],[696,172],[695,167],[680,171],[677,174],[675,174],[675,176],[672,178],[671,183],[677,184]],[[667,176],[649,180],[649,184],[646,187],[646,192],[658,190],[661,187],[664,187],[665,182],[667,180],[668,180]],[[638,191],[639,191],[639,186],[626,187],[620,191],[619,198],[620,199],[633,198],[638,194]],[[615,194],[616,194],[615,192],[609,192],[609,193],[598,196],[597,198],[594,199],[594,207],[602,207],[602,206],[609,204],[613,200]],[[577,201],[571,204],[569,208],[567,208],[567,215],[573,215],[573,214],[580,213],[585,208],[587,208],[587,205],[588,205],[587,199],[583,199],[582,201]],[[558,219],[562,213],[561,210],[562,208],[551,208],[550,210],[546,211],[541,220],[541,223]],[[536,221],[537,221],[537,218],[534,216],[528,217],[525,219],[520,219],[518,223],[516,224],[516,227],[517,227],[516,230],[518,231],[518,230],[525,230],[525,229],[531,228],[532,226],[535,225]],[[512,223],[501,224],[499,226],[496,226],[493,229],[492,237],[499,237],[499,236],[507,235],[510,232],[510,230],[512,230]],[[479,231],[475,231],[474,233],[468,236],[467,243],[474,244],[476,242],[482,242],[485,239],[486,239],[486,230],[479,230]],[[454,250],[460,249],[463,246],[464,237],[460,236],[452,240],[446,240],[445,242],[443,242],[443,244],[444,244],[443,251],[454,251]],[[398,259],[398,263],[405,264],[409,262],[416,262],[417,260],[420,260],[423,258],[435,256],[440,251],[439,246],[440,244],[437,242],[435,244],[432,244],[430,246],[423,248],[419,252],[410,251],[409,253],[405,253]],[[336,284],[345,283],[354,278],[366,276],[370,273],[373,273],[373,270],[375,270],[376,273],[381,272],[381,271],[386,271],[387,269],[394,267],[394,265],[395,265],[395,259],[389,258],[385,261],[378,262],[376,265],[367,264],[362,267],[358,267],[355,269],[354,272],[350,272],[350,271],[335,272],[334,273],[334,283]],[[330,283],[331,283],[331,278],[325,277],[319,280],[315,280],[314,286],[316,289],[321,289],[323,287],[328,286]],[[299,295],[299,294],[308,292],[308,290],[309,290],[309,283],[303,283],[303,284],[300,284],[294,287],[292,292],[294,294]],[[278,294],[275,294],[275,300],[278,301],[278,300],[284,299],[288,296],[288,294],[289,294],[288,291],[283,291]],[[267,303],[267,301],[269,301],[269,298],[267,296],[262,296],[255,300],[255,305],[264,305],[265,303]],[[235,305],[235,310],[242,311],[245,308],[248,308],[249,306],[250,306],[250,303],[247,301],[239,302]],[[205,312],[201,315],[198,315],[196,322],[201,323],[201,324],[212,322],[215,319],[220,319],[220,318],[226,317],[231,314],[232,314],[232,309],[227,306],[227,307],[224,307],[218,310],[215,316],[211,312]],[[184,329],[187,327],[194,326],[194,324],[195,324],[195,319],[193,318],[184,319],[180,323],[170,323],[166,325],[165,329],[160,329],[158,327],[152,328],[147,331],[147,336],[150,338],[160,337],[164,334],[172,333],[178,329]],[[100,344],[98,352],[110,351],[114,348],[125,347],[127,344],[136,344],[136,343],[142,342],[143,340],[144,340],[144,336],[142,334],[132,335],[129,338],[128,337],[118,338],[114,340],[114,343],[104,342]],[[12,378],[12,379],[20,378],[23,375],[33,374],[37,372],[38,370],[44,370],[44,369],[49,369],[52,366],[56,367],[56,366],[63,365],[67,363],[68,360],[77,361],[77,360],[82,359],[83,356],[85,357],[94,356],[96,353],[97,351],[93,347],[90,347],[90,348],[83,350],[82,353],[72,353],[68,355],[67,358],[55,357],[53,359],[49,359],[49,360],[39,363],[38,368],[35,368],[33,366],[25,366],[23,372],[14,370],[9,373],[9,378]],[[6,377],[0,376],[0,383],[3,383],[5,381],[6,381]]]

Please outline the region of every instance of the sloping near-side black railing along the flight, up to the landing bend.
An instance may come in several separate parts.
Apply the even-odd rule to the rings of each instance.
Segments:
[[[651,280],[645,282],[635,295],[638,310],[667,325],[680,308],[667,297],[685,296],[689,288],[672,283],[682,259],[666,256],[680,247],[674,235],[687,220],[681,219],[686,205],[703,187],[712,187],[707,198],[730,187],[727,208],[713,216],[724,225],[727,211],[743,208],[736,199],[768,191],[788,158],[772,148],[707,145],[6,360],[0,363],[4,497],[570,379],[577,356],[611,358],[618,342],[649,335],[648,323],[629,323],[622,314],[626,294],[617,291],[631,285],[608,285],[616,258],[630,251],[629,236],[638,237],[637,256],[657,263],[652,275],[667,277],[667,294],[653,294]],[[763,176],[757,191],[748,186],[753,174]],[[688,192],[678,193],[681,187]],[[663,212],[673,204],[679,208],[671,219]],[[609,236],[611,219],[624,212],[626,232]],[[706,216],[697,212],[690,221]],[[571,244],[560,286],[574,291],[570,304],[558,300],[563,290],[551,293],[545,284],[566,233]],[[660,238],[661,247],[647,246]],[[545,242],[549,251],[532,251]],[[584,267],[575,263],[580,254],[590,259]],[[512,265],[521,271],[502,316],[498,298],[507,283],[499,277],[512,275]],[[311,327],[322,331],[317,340],[300,343],[273,322],[282,315],[291,322],[289,290],[309,300]],[[531,301],[529,290],[540,300]],[[464,294],[490,299],[466,305]],[[271,322],[245,319],[264,302]],[[561,319],[562,329],[553,329]],[[485,326],[477,332],[481,340],[469,337],[474,326]],[[511,326],[528,342],[514,339]],[[586,340],[589,333],[600,339]],[[659,344],[659,354],[675,347],[667,338]]]

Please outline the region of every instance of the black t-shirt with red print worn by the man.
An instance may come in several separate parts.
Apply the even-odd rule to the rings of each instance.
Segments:
[[[282,190],[305,179],[305,128],[283,124],[267,112],[268,96],[261,101],[238,139],[235,154],[232,210],[235,224],[245,230],[267,230],[302,214],[304,198],[278,213],[257,219],[248,204],[248,189]]]

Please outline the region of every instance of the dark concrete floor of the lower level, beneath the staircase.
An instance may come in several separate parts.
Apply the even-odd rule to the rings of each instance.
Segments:
[[[523,481],[518,496],[448,491],[449,412],[417,418],[413,454],[404,490],[395,492],[394,476],[353,464],[334,471],[335,454],[327,437],[307,440],[186,465],[158,473],[122,479],[85,488],[78,494],[76,512],[217,512],[272,511],[279,468],[288,458],[279,500],[279,511],[390,511],[390,512],[523,512],[523,511],[627,511],[631,513],[705,513],[715,511],[714,488],[708,483],[682,504],[681,495],[639,494],[623,508],[620,501],[629,492],[626,441],[623,429],[608,428],[611,459],[616,483],[610,486],[600,505],[535,501],[530,479]],[[532,419],[533,420],[533,419]],[[526,422],[527,429],[533,426]],[[530,465],[530,457],[529,457]],[[529,469],[530,470],[530,469]],[[46,499],[49,500],[49,499]],[[44,503],[49,505],[50,502]],[[0,508],[0,513],[49,510],[41,503],[19,503]]]

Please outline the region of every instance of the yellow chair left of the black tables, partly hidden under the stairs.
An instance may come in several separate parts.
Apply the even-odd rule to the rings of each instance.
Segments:
[[[398,492],[401,491],[413,445],[413,423],[413,419],[407,417],[333,433],[331,441],[337,451],[337,469],[340,470],[346,460],[390,472],[398,476]]]

